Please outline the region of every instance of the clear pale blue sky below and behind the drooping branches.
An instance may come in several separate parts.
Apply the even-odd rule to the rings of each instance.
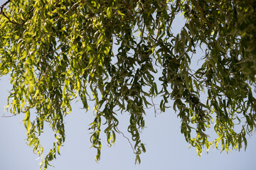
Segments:
[[[0,5],[4,2],[0,0]],[[183,23],[182,18],[176,20],[174,30],[179,30],[183,26]],[[21,115],[11,118],[2,117],[2,115],[10,115],[10,113],[4,112],[4,106],[6,106],[10,90],[11,84],[9,83],[9,77],[1,77],[0,170],[39,169],[38,164],[41,162],[41,159],[37,159],[38,156],[33,154],[33,148],[26,145],[26,129],[21,122],[24,114],[21,113]],[[157,103],[160,99],[155,98],[154,100]],[[49,167],[48,169],[256,169],[256,135],[248,138],[246,152],[242,148],[240,152],[233,150],[229,154],[226,154],[226,152],[220,153],[220,150],[210,148],[209,154],[206,154],[206,150],[203,150],[203,154],[199,158],[195,148],[189,149],[190,145],[181,134],[180,120],[172,108],[167,109],[166,113],[159,113],[158,111],[156,118],[153,108],[147,110],[145,117],[147,128],[144,129],[141,135],[142,142],[146,144],[146,153],[141,154],[141,164],[134,164],[135,155],[127,139],[117,134],[117,141],[110,148],[107,147],[104,132],[102,132],[101,137],[101,160],[97,163],[95,162],[97,150],[90,148],[90,130],[87,130],[88,125],[93,121],[94,117],[91,110],[85,113],[85,110],[80,109],[81,107],[79,102],[74,102],[72,113],[65,117],[65,147],[60,148],[61,155],[57,155],[57,159],[51,162],[55,167]],[[119,130],[129,137],[127,133],[127,125],[129,123],[128,113],[119,115],[118,118],[120,122]],[[54,136],[48,125],[44,127],[45,133],[41,135],[41,141],[47,152],[53,146]]]

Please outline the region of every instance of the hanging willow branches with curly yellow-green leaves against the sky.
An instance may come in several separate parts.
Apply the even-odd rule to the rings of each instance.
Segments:
[[[10,74],[13,85],[6,108],[25,113],[28,145],[44,169],[60,154],[63,118],[75,98],[86,110],[88,100],[95,103],[96,161],[101,131],[113,145],[117,115],[125,113],[141,162],[140,133],[156,96],[161,112],[176,111],[181,133],[199,155],[211,146],[246,148],[256,128],[255,11],[255,0],[8,0],[0,11],[0,76]],[[186,23],[174,34],[180,14]],[[203,55],[195,59],[198,47]],[[56,141],[43,157],[38,137],[45,123]]]

